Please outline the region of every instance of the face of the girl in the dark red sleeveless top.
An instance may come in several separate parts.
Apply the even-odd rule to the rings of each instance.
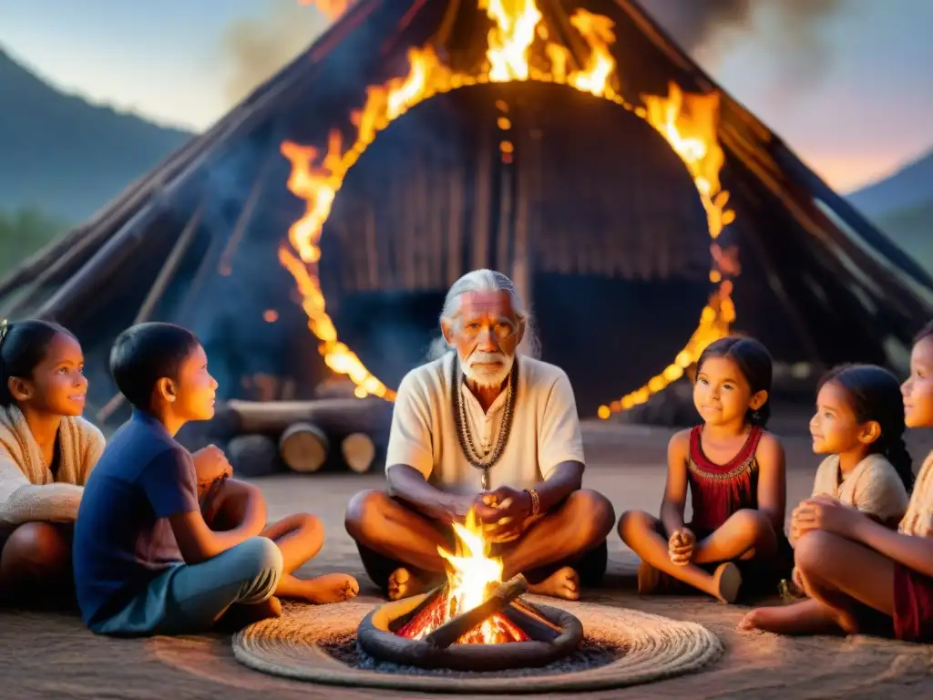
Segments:
[[[693,385],[693,405],[711,426],[744,421],[748,409],[759,408],[767,397],[764,391],[752,395],[745,375],[729,357],[704,360]]]

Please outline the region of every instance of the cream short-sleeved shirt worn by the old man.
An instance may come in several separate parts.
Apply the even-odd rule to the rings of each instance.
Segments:
[[[480,491],[482,470],[472,467],[453,422],[453,352],[410,371],[398,386],[386,452],[386,471],[405,464],[428,483],[452,493]],[[490,489],[528,488],[550,477],[561,462],[584,462],[577,403],[566,373],[531,357],[518,357],[519,383],[512,429],[499,461],[489,471]],[[495,446],[506,406],[503,391],[483,412],[460,383],[466,422],[480,455]]]

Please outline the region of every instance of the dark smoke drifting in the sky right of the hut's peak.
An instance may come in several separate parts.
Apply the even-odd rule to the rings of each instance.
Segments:
[[[739,39],[756,42],[773,64],[775,87],[813,84],[831,60],[820,35],[839,0],[642,0],[697,61],[715,72],[723,52]]]

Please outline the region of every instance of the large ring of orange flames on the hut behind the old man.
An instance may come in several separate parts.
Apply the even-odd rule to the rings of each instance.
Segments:
[[[299,1],[308,4],[312,0]],[[318,0],[315,5],[324,11],[343,11],[348,3],[345,0]],[[580,69],[568,70],[570,50],[549,39],[553,33],[544,23],[535,0],[480,0],[479,7],[494,26],[487,35],[486,63],[478,71],[455,73],[440,61],[431,47],[410,49],[408,76],[394,77],[383,85],[370,86],[362,108],[351,114],[356,135],[354,144],[347,150],[341,149],[338,130],[331,132],[323,158],[318,148],[287,141],[282,144],[282,154],[292,163],[288,189],[307,204],[305,214],[288,231],[290,249],[283,247],[279,259],[295,278],[303,300],[302,307],[308,315],[308,327],[321,341],[320,351],[327,366],[332,371],[347,374],[354,381],[359,397],[372,394],[392,400],[395,392],[373,376],[353,351],[337,339],[317,278],[321,231],[344,176],[376,135],[393,119],[436,94],[477,83],[542,80],[615,102],[646,119],[684,161],[703,201],[709,233],[714,240],[735,218],[734,213],[726,208],[729,193],[721,189],[719,183],[719,171],[725,157],[717,140],[716,93],[685,95],[671,83],[666,97],[642,95],[645,106],[631,105],[620,95],[616,61],[610,51],[616,35],[614,23],[609,18],[582,9],[570,18],[571,25],[589,46],[590,56]],[[540,41],[536,43],[536,39]],[[533,59],[536,61],[534,66]],[[510,162],[511,154],[507,155],[506,162]],[[715,254],[716,250],[720,255]],[[726,262],[729,258],[721,255],[721,249],[716,250],[712,251],[710,280],[718,287],[703,309],[697,329],[684,349],[648,384],[601,406],[598,411],[600,417],[607,418],[611,413],[644,403],[652,394],[679,379],[707,344],[729,333],[735,309],[731,301],[731,282],[724,280],[723,275],[737,269],[737,263],[729,262],[720,268],[718,262]]]

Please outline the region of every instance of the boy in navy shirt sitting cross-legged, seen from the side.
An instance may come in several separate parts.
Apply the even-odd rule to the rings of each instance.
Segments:
[[[110,370],[133,406],[91,472],[77,514],[74,567],[84,622],[107,635],[203,632],[231,609],[243,622],[281,614],[272,597],[283,558],[258,537],[263,509],[214,532],[199,481],[230,474],[213,448],[194,459],[174,441],[188,421],[214,415],[217,383],[187,329],[146,323],[121,333]]]

